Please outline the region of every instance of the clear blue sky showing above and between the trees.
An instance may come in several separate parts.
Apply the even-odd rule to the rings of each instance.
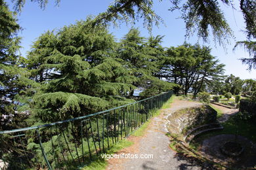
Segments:
[[[75,24],[78,20],[85,20],[89,15],[96,16],[98,13],[104,12],[111,2],[110,0],[61,0],[60,4],[56,6],[54,1],[51,0],[45,10],[43,10],[40,9],[37,3],[27,0],[22,12],[17,16],[18,24],[23,28],[20,32],[22,37],[20,53],[26,57],[26,53],[30,50],[33,42],[42,33],[48,30],[58,30],[64,25]],[[11,0],[7,0],[7,4],[13,10]],[[163,18],[165,23],[160,24],[158,27],[154,26],[152,35],[164,35],[165,37],[163,37],[162,42],[164,47],[179,46],[185,41],[185,24],[182,19],[179,19],[181,12],[171,12],[168,10],[170,7],[171,3],[167,0],[161,2],[154,1],[153,9]],[[249,54],[244,48],[233,50],[236,41],[244,41],[246,38],[242,31],[245,30],[242,12],[239,10],[238,4],[234,4],[234,7],[236,10],[221,4],[224,16],[235,35],[235,39],[231,39],[230,44],[226,44],[226,50],[224,50],[223,46],[215,44],[212,37],[209,38],[209,43],[203,43],[196,36],[186,39],[186,42],[191,44],[199,42],[201,45],[210,46],[212,48],[211,54],[216,56],[220,63],[226,65],[224,67],[226,69],[225,75],[233,74],[242,79],[255,79],[256,70],[247,71],[247,66],[242,65],[242,62],[239,60],[239,58],[248,58]],[[143,27],[142,20],[136,22],[135,25],[123,23],[119,27],[110,26],[109,30],[116,37],[116,40],[119,41],[128,33],[131,27],[139,27],[143,37],[150,36],[149,31]]]

